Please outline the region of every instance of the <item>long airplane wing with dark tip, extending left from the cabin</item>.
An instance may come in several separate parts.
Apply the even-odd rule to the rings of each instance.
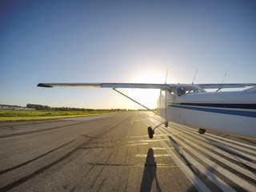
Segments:
[[[169,90],[171,85],[166,84],[147,84],[147,83],[39,83],[38,86],[78,86],[78,87],[97,87],[97,88],[131,88],[131,89],[161,89]]]

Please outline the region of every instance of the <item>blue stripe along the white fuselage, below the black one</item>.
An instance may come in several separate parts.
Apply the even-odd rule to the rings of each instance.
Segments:
[[[244,116],[249,118],[256,118],[256,111],[248,111],[248,110],[226,110],[226,109],[215,109],[210,107],[200,107],[200,106],[182,106],[182,105],[168,105],[172,107],[182,108],[186,110],[200,110],[211,113],[218,114],[232,114],[238,116]]]

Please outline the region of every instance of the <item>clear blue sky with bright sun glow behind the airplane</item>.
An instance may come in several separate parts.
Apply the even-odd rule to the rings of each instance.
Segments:
[[[170,83],[197,69],[195,83],[226,70],[225,82],[256,82],[256,1],[0,2],[0,104],[141,108],[113,90],[36,85],[163,83],[167,67]],[[126,93],[156,106],[156,92]]]

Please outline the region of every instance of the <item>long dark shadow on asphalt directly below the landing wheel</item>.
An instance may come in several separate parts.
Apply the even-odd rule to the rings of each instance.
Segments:
[[[154,162],[154,150],[150,148],[147,151],[146,155],[146,162],[144,165],[144,172],[140,191],[150,191],[154,180],[157,187],[156,191],[161,191],[157,178],[157,164],[156,162]]]

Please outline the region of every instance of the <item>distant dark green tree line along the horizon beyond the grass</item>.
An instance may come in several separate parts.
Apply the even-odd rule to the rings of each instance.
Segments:
[[[36,110],[67,110],[67,111],[98,111],[93,109],[84,109],[84,108],[74,108],[74,107],[51,107],[51,106],[42,106],[38,104],[26,104],[28,108],[34,108]],[[113,111],[122,111],[122,109],[111,109]],[[104,110],[101,110],[104,111]]]

